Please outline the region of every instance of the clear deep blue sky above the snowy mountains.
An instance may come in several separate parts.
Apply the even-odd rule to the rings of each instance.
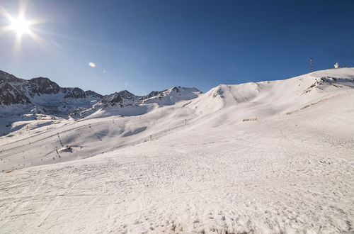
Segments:
[[[18,1],[0,4],[18,14]],[[15,53],[16,34],[1,34],[0,69],[101,94],[286,79],[309,72],[309,57],[353,67],[353,12],[349,0],[32,0],[42,42],[23,35]]]

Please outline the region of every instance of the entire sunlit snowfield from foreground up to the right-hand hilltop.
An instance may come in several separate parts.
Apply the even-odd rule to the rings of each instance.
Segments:
[[[353,79],[329,69],[18,128],[0,138],[0,233],[353,233]]]

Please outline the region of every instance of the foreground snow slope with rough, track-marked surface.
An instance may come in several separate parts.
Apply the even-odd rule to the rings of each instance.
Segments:
[[[213,135],[175,133],[87,160],[3,174],[0,230],[352,231],[350,160],[321,150],[314,138],[300,145],[305,127],[292,133],[290,126],[263,124],[269,126],[247,128],[258,138],[228,126]]]

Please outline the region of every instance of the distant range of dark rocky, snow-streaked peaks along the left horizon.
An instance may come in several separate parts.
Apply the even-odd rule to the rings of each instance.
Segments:
[[[146,96],[137,96],[127,90],[103,96],[78,87],[59,87],[45,77],[27,80],[0,71],[0,112],[4,114],[47,113],[81,118],[108,107],[173,105],[176,101],[194,99],[199,94],[201,92],[195,88],[171,87],[152,91]]]

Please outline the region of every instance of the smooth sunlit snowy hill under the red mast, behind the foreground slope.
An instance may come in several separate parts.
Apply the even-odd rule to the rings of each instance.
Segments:
[[[353,87],[353,68],[328,69],[285,80],[220,84],[188,106],[200,115],[218,111],[215,118],[223,123],[235,118],[272,118],[301,111]],[[234,114],[229,116],[230,112]]]

